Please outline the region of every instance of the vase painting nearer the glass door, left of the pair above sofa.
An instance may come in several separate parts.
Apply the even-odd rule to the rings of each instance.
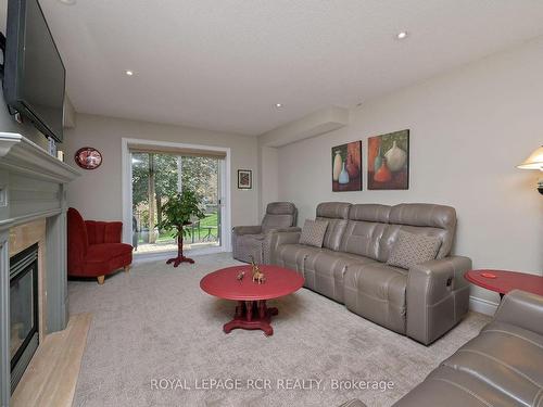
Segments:
[[[362,141],[332,148],[332,191],[362,190]]]

